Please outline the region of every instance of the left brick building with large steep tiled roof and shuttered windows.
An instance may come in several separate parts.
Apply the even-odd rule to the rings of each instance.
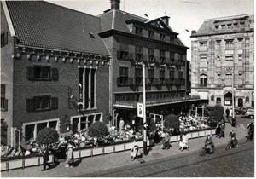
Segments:
[[[1,2],[1,13],[8,143],[11,127],[29,141],[46,126],[65,134],[95,121],[108,124],[110,56],[97,34],[100,19],[43,1]]]

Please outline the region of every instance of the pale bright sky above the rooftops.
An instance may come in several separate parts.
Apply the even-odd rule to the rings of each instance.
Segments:
[[[92,15],[102,14],[104,10],[110,9],[110,0],[47,1]],[[174,32],[179,33],[178,38],[190,48],[191,31],[197,31],[204,20],[253,14],[254,2],[253,0],[120,0],[120,10],[149,20],[168,15],[169,26]],[[143,14],[148,14],[148,17]],[[190,61],[191,49],[187,51],[187,57]]]

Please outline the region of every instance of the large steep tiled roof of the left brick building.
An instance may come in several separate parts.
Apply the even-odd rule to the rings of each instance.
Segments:
[[[44,1],[6,1],[20,44],[109,55],[98,36],[101,19]],[[90,37],[90,33],[94,38]]]

